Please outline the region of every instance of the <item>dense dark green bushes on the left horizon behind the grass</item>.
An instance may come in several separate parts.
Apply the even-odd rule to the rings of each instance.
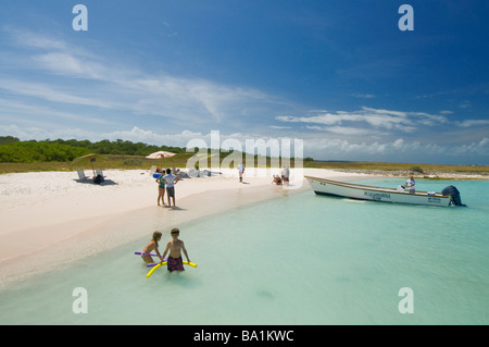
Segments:
[[[28,140],[21,141],[16,137],[0,136],[0,162],[67,162],[75,158],[89,154],[122,154],[122,156],[148,156],[149,153],[165,150],[174,153],[184,153],[185,148],[171,146],[154,146],[142,142],[134,144],[117,139],[115,141],[55,139],[55,140]]]

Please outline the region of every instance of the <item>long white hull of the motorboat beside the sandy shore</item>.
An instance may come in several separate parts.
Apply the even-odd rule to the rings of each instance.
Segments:
[[[337,196],[351,199],[449,207],[451,197],[440,193],[416,191],[414,194],[392,188],[380,188],[305,176],[316,195]]]

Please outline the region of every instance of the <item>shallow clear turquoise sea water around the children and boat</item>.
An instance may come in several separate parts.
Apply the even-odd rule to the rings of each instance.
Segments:
[[[198,269],[146,278],[145,238],[10,286],[0,323],[489,324],[489,182],[416,183],[453,184],[468,208],[301,191],[179,225]],[[76,287],[87,313],[73,312]],[[413,313],[399,311],[404,287]]]

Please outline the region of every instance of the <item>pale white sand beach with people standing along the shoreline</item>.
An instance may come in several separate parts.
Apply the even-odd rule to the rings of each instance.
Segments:
[[[101,185],[78,181],[76,172],[0,175],[1,283],[150,237],[154,230],[166,231],[227,209],[310,189],[303,174],[333,179],[366,176],[319,169],[292,170],[287,188],[272,184],[272,175],[279,174],[279,169],[248,170],[243,183],[238,182],[237,172],[212,172],[210,177],[178,182],[176,209],[156,205],[158,185],[149,170],[105,171]],[[154,216],[158,224],[145,223]],[[117,232],[121,225],[133,224],[130,233]]]

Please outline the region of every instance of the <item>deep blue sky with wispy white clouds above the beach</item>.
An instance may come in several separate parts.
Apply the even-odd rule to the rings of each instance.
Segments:
[[[0,135],[184,147],[218,131],[302,139],[321,160],[489,164],[488,13],[485,0],[2,0]]]

